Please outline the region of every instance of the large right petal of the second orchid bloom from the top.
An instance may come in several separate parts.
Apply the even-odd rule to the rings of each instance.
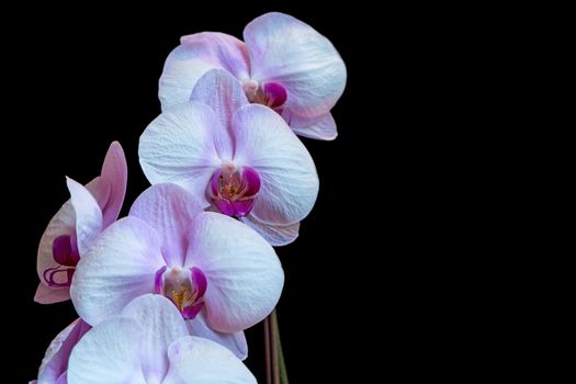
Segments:
[[[318,174],[308,150],[272,110],[247,105],[233,120],[235,163],[253,168],[261,181],[251,215],[286,226],[308,215],[318,194]]]

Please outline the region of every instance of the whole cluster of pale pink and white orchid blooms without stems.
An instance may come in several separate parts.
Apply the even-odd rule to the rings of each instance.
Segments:
[[[52,342],[37,383],[256,383],[244,330],[275,307],[273,246],[296,239],[318,176],[296,135],[334,139],[346,84],[331,43],[282,13],[181,38],[144,131],[151,187],[118,215],[127,166],[112,143],[101,174],[39,241],[35,301],[80,316]]]

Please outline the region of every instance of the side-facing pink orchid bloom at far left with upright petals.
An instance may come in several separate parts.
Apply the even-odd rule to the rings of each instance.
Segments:
[[[110,145],[101,176],[86,188],[67,179],[71,197],[52,218],[39,241],[36,302],[52,304],[70,298],[76,266],[93,239],[118,217],[126,180],[126,159],[117,142]]]

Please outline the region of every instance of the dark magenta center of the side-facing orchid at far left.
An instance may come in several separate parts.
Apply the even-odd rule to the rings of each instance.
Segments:
[[[80,261],[76,235],[56,237],[52,244],[52,257],[59,266],[46,269],[43,273],[44,281],[49,287],[70,286],[76,266]]]

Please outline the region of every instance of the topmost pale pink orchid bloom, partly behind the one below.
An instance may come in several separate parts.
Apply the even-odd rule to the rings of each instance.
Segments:
[[[196,81],[218,68],[237,79],[250,102],[274,109],[296,134],[336,138],[330,110],[347,74],[332,44],[312,26],[276,12],[252,20],[244,39],[214,32],[181,37],[160,77],[162,111],[188,101]]]

